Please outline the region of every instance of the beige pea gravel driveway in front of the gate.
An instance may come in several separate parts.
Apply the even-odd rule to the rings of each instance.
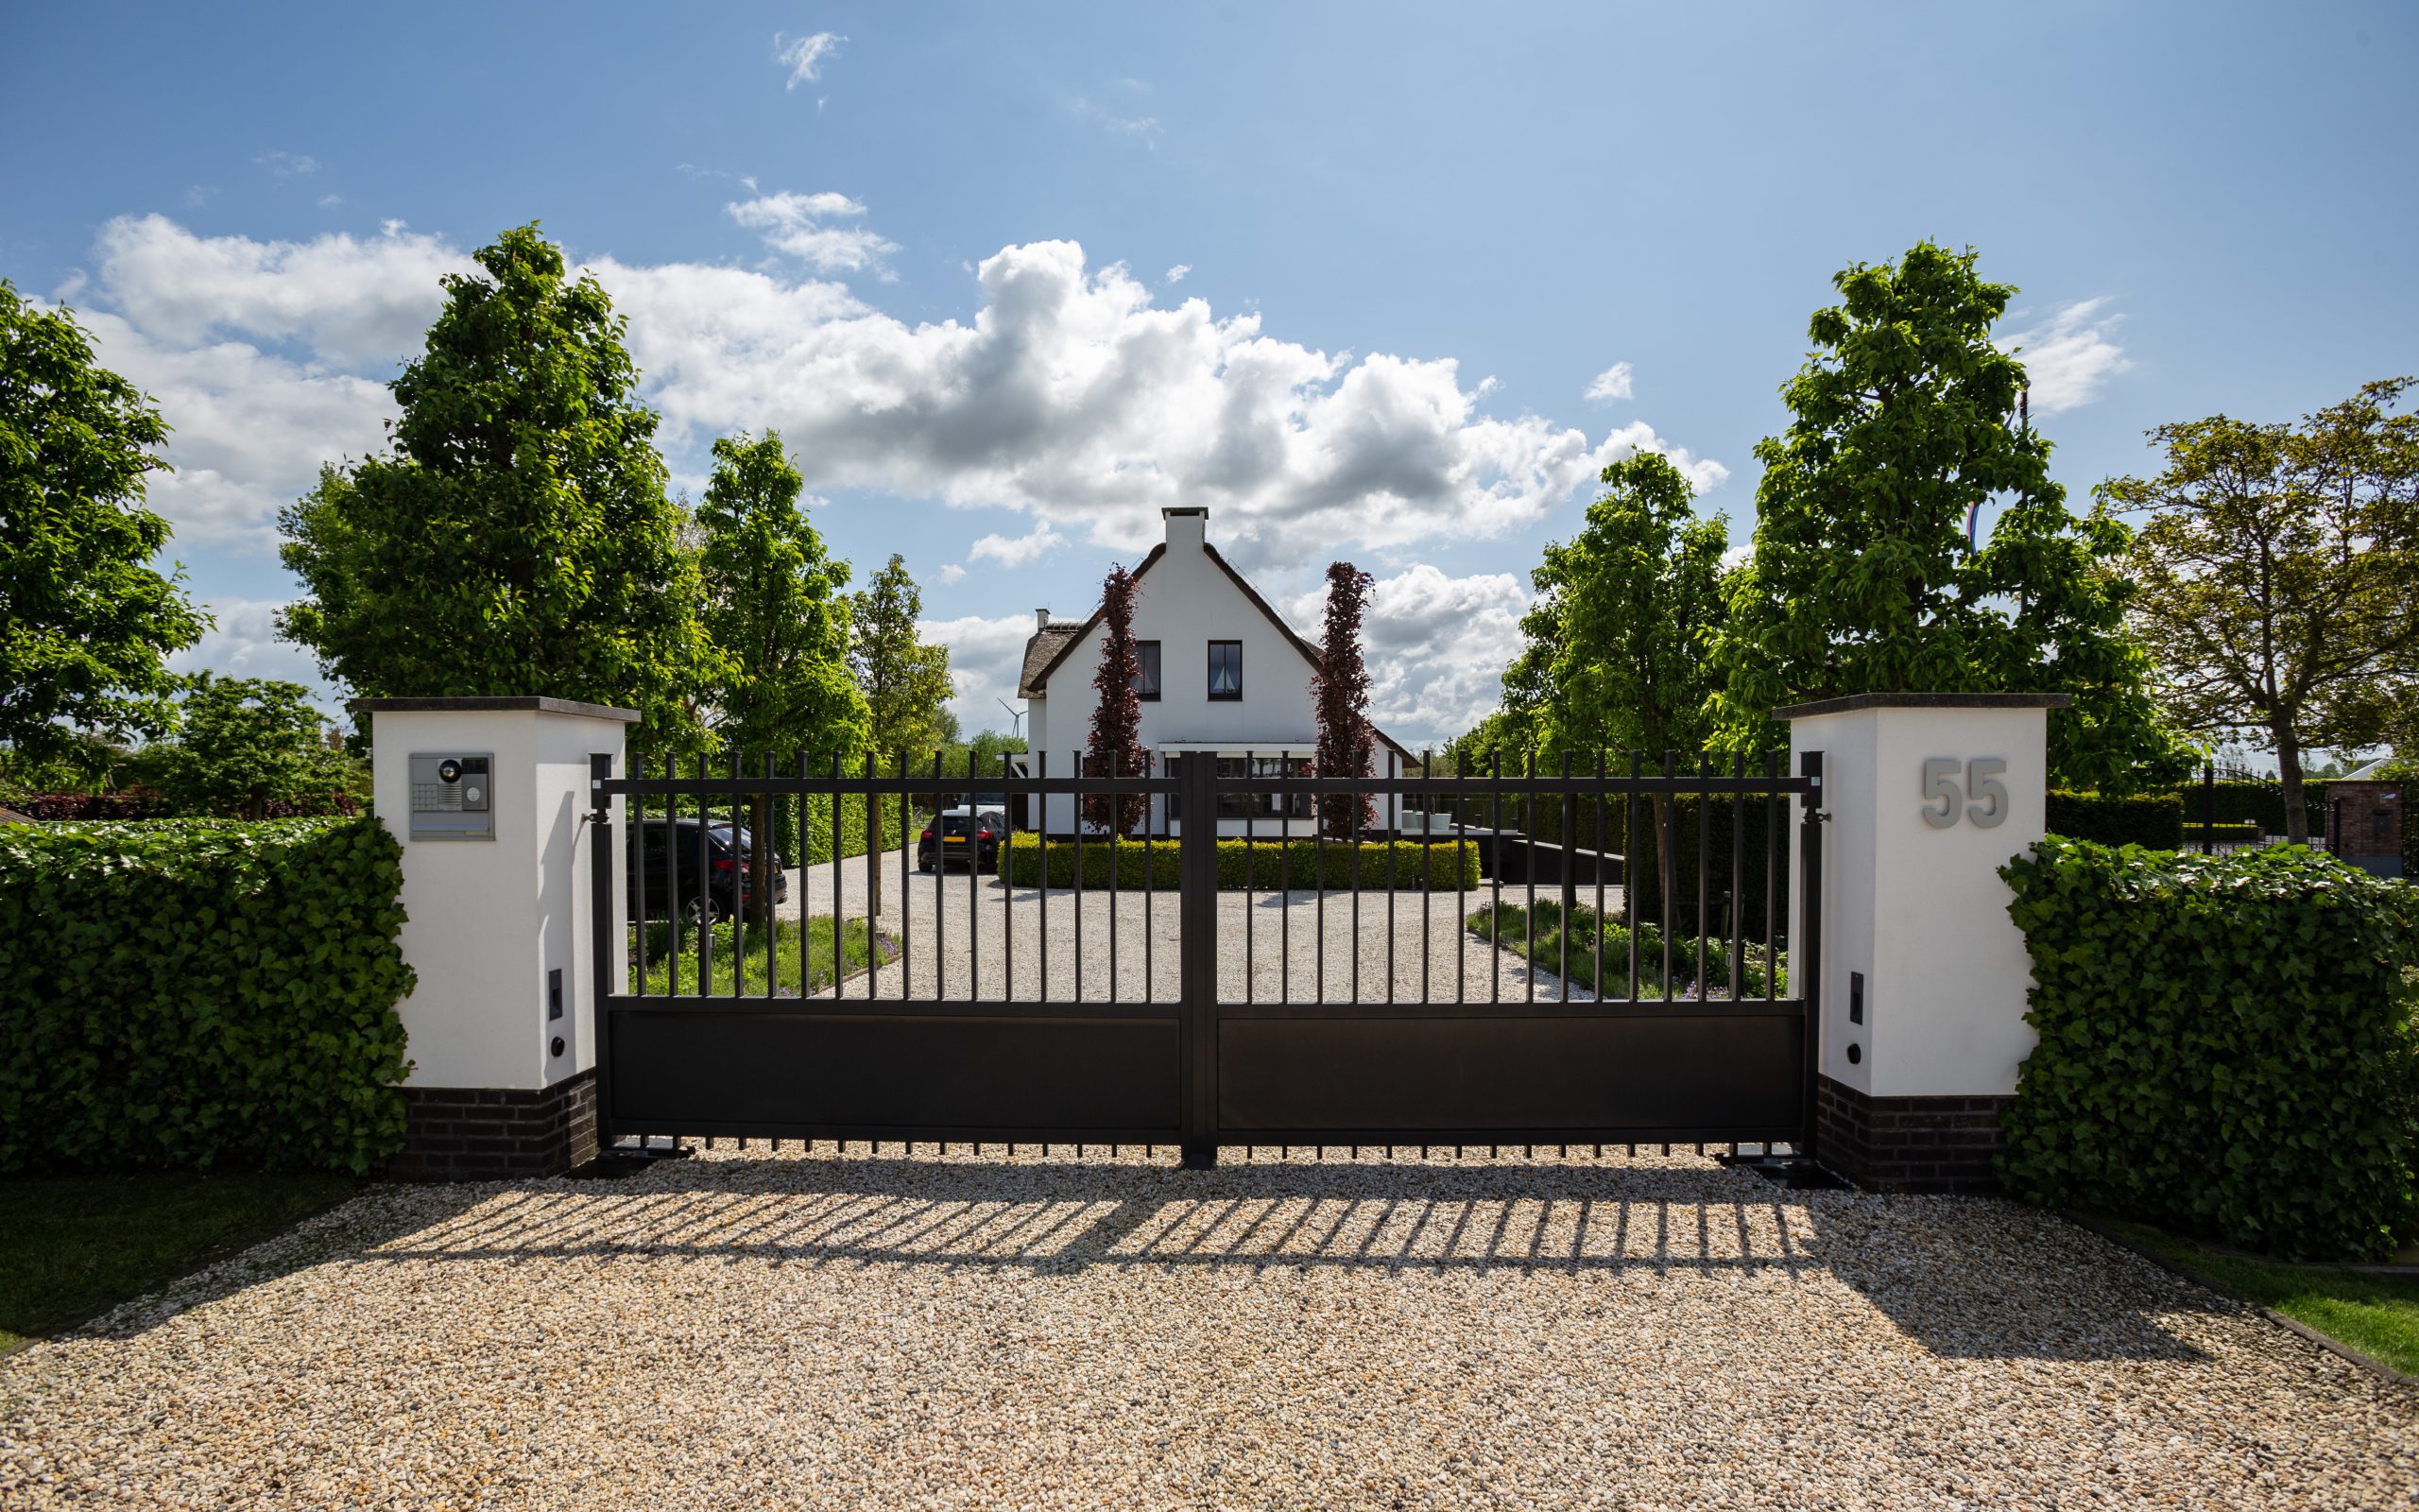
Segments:
[[[2056,1217],[1548,1154],[375,1188],[0,1360],[0,1505],[2419,1505],[2409,1389]]]

